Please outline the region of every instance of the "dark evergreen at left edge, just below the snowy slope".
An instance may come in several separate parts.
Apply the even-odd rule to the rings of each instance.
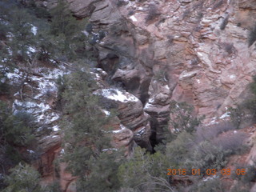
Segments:
[[[22,161],[23,158],[18,152],[18,147],[30,146],[34,142],[34,130],[36,128],[37,125],[30,114],[23,111],[13,114],[6,103],[0,102],[1,172],[7,172],[6,169],[8,167],[14,166]]]

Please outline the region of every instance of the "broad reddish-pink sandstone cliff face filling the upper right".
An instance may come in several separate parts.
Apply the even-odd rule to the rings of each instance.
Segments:
[[[256,72],[254,45],[248,47],[254,2],[129,1],[118,7],[106,0],[95,10],[100,12],[90,21],[108,32],[97,45],[100,66],[144,106],[158,92],[150,87],[159,71],[166,73],[170,93],[158,92],[154,110],[164,110],[168,102],[162,102],[171,99],[188,102],[209,122],[244,99]]]

